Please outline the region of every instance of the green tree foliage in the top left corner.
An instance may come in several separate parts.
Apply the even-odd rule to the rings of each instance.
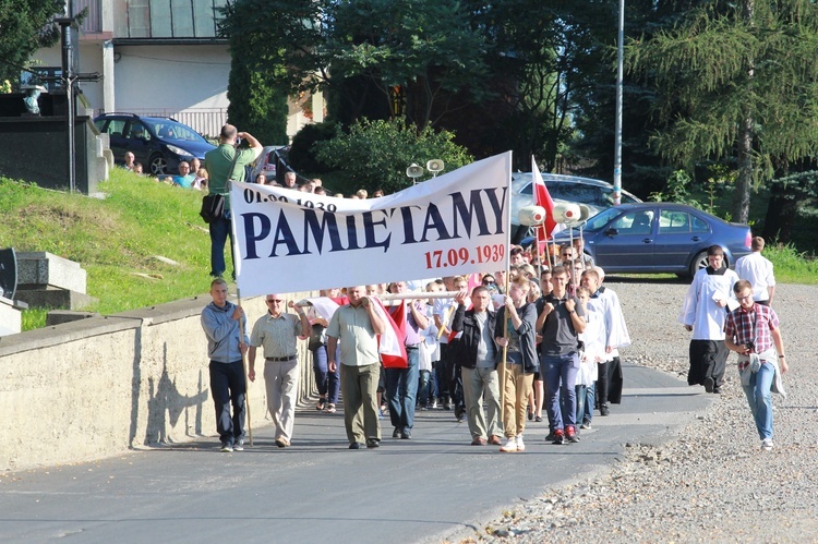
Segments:
[[[0,82],[16,82],[37,49],[57,43],[60,28],[51,21],[64,7],[64,0],[0,0]]]

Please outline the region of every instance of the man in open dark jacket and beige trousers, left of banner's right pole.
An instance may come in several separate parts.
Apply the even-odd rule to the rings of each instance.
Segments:
[[[466,310],[466,291],[455,297],[457,310],[452,330],[462,331],[455,356],[462,377],[471,445],[500,446],[500,378],[496,363],[497,343],[493,336],[496,314],[491,311],[491,293],[488,288],[474,288],[471,292],[471,310]],[[483,414],[483,398],[488,404],[488,422]]]

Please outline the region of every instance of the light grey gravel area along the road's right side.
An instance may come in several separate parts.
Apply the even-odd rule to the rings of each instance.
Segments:
[[[634,340],[623,359],[686,380],[689,334],[677,316],[687,283],[612,277],[606,285],[619,294]],[[778,287],[790,372],[786,399],[772,396],[772,451],[759,447],[731,353],[724,392],[677,438],[628,445],[608,470],[506,508],[479,540],[818,542],[815,300],[818,287]]]

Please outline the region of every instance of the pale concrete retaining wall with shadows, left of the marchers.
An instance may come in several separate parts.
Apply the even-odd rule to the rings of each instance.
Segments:
[[[300,300],[313,293],[292,293]],[[200,295],[112,316],[0,338],[0,470],[113,456],[128,449],[214,437],[207,341]],[[243,299],[248,329],[264,297]],[[248,331],[249,334],[249,331]],[[312,359],[299,342],[299,400],[314,391]],[[263,352],[256,371],[263,371]],[[249,383],[253,426],[269,423],[263,372]]]

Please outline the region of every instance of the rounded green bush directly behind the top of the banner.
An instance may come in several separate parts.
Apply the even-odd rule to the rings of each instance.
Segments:
[[[314,148],[320,160],[344,172],[347,192],[363,188],[392,193],[411,186],[406,176],[411,164],[425,166],[428,160],[442,159],[448,171],[473,160],[454,143],[450,132],[435,132],[429,125],[418,132],[404,119],[362,119],[348,133],[338,128],[336,137],[318,141]]]

